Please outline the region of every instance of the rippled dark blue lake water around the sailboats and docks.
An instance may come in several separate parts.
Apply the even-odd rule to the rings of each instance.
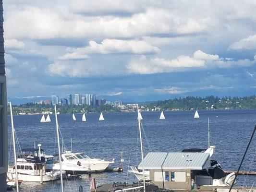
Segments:
[[[142,112],[142,124],[152,151],[180,152],[185,148],[207,148],[207,117],[209,117],[211,145],[217,145],[212,159],[217,159],[225,170],[237,170],[256,124],[256,109],[202,110],[199,111],[199,119],[194,119],[194,113],[195,111],[168,111],[165,112],[166,119],[159,120],[160,112]],[[115,166],[119,166],[120,152],[124,152],[124,171],[92,174],[96,182],[100,184],[113,180],[135,180],[133,175],[127,174],[127,168],[128,165],[136,165],[137,161],[140,161],[140,154],[136,153],[137,149],[140,150],[137,148],[139,140],[136,113],[105,113],[103,114],[104,121],[98,121],[99,114],[86,114],[87,121],[85,122],[81,121],[82,114],[75,115],[76,121],[72,120],[71,114],[58,115],[67,149],[71,148],[71,138],[73,138],[73,151],[85,152],[90,157],[107,160],[115,157]],[[40,123],[41,115],[14,116],[14,127],[21,148],[33,147],[36,141],[42,144],[47,154],[57,153],[55,119],[54,115],[50,117],[51,122]],[[145,151],[149,152],[145,137],[143,141]],[[248,150],[242,170],[256,171],[255,153],[256,135]],[[252,186],[254,181],[256,181],[256,176],[239,176],[237,185]],[[64,188],[67,192],[78,191],[80,185],[83,186],[85,192],[89,190],[88,175],[64,181]],[[23,183],[20,191],[59,192],[60,181],[43,184]]]

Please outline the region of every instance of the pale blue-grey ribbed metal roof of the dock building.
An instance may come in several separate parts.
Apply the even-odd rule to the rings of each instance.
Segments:
[[[210,167],[208,153],[148,153],[144,157],[145,169],[191,169]],[[139,164],[142,169],[142,163]]]

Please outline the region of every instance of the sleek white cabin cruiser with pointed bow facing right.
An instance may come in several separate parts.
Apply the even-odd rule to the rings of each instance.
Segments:
[[[46,156],[46,169],[47,170],[59,170],[60,164],[59,158],[55,156]],[[112,161],[106,161],[104,159],[90,158],[84,153],[73,153],[66,151],[61,154],[61,166],[62,170],[66,171],[66,174],[81,175],[88,172],[103,172]]]

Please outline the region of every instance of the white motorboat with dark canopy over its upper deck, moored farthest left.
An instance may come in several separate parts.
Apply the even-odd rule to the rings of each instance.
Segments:
[[[41,146],[41,145],[39,145]],[[46,158],[42,149],[26,148],[22,149],[17,156],[18,179],[31,182],[45,182],[60,178],[60,171],[46,172]],[[62,171],[65,174],[65,171]],[[7,177],[15,179],[15,166],[9,166]]]

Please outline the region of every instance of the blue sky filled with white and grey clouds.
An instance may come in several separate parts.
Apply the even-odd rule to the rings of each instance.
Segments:
[[[256,94],[255,0],[4,0],[9,98]]]

